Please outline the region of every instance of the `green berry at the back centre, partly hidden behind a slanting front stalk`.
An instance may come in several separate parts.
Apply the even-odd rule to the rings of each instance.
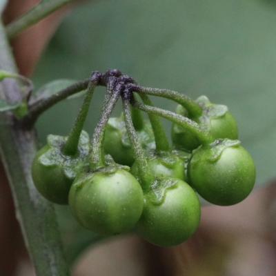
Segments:
[[[145,120],[144,128],[136,133],[145,150],[155,148],[155,137],[148,120]],[[103,147],[106,154],[111,155],[117,164],[132,166],[135,159],[126,132],[124,116],[112,117],[108,120]]]

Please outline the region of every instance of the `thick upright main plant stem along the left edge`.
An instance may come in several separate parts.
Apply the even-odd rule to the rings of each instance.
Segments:
[[[6,37],[0,24],[0,68],[16,72]],[[14,79],[0,83],[0,94],[20,93]],[[26,130],[12,112],[0,112],[0,153],[6,169],[17,219],[37,276],[67,276],[61,237],[54,206],[43,199],[32,183],[31,164],[36,153],[33,130]]]

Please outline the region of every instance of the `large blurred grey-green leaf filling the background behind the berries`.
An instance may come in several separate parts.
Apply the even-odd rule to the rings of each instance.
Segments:
[[[142,86],[176,90],[193,99],[206,95],[228,106],[237,119],[260,187],[275,177],[275,48],[272,0],[88,1],[66,15],[33,81],[39,88],[53,79],[81,80],[92,70],[117,68]],[[92,100],[85,126],[90,135],[103,92],[98,88]],[[175,110],[171,101],[152,99],[156,106]],[[41,144],[50,133],[68,135],[80,105],[81,99],[72,99],[45,112],[37,121]],[[118,106],[114,115],[119,112]],[[169,135],[170,124],[164,124]],[[83,247],[97,239],[75,224],[68,227],[66,207],[57,211],[67,240],[74,231],[82,231]]]

